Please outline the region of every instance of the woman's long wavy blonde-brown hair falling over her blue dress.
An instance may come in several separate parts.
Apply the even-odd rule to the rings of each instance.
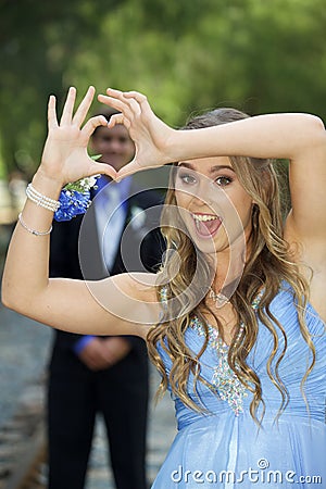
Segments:
[[[184,128],[215,126],[246,117],[248,117],[247,114],[235,109],[217,109],[192,118]],[[228,363],[241,384],[252,392],[250,413],[253,419],[260,424],[265,412],[262,386],[258,374],[247,363],[248,354],[258,338],[258,319],[268,329],[273,338],[273,348],[266,368],[272,383],[281,396],[278,417],[289,401],[287,388],[279,376],[279,364],[287,351],[288,340],[283,325],[273,315],[269,305],[281,283],[286,280],[292,288],[300,330],[312,354],[312,361],[301,380],[301,390],[304,397],[304,383],[315,363],[315,349],[304,319],[309,300],[309,283],[300,273],[298,264],[291,261],[288,243],[283,238],[284,216],[275,162],[244,156],[231,156],[229,160],[240,184],[255,203],[252,209],[252,233],[249,238],[251,252],[237,289],[230,298],[230,303],[237,314],[237,330],[228,349]],[[170,383],[173,393],[188,408],[201,411],[197,383],[201,381],[208,385],[200,374],[200,358],[209,342],[209,329],[203,316],[208,306],[204,298],[199,303],[196,298],[202,297],[202,284],[206,283],[208,277],[213,277],[215,271],[211,269],[205,256],[195,248],[190,238],[183,231],[179,214],[171,212],[171,209],[177,205],[173,190],[174,173],[171,173],[171,185],[165,199],[166,205],[162,213],[162,233],[166,239],[167,252],[160,273],[162,283],[166,284],[166,298],[173,299],[171,302],[174,310],[165,311],[162,321],[149,331],[147,342],[150,359],[162,376],[156,393],[158,398],[165,392]],[[174,252],[175,250],[177,253]],[[193,280],[195,274],[196,280]],[[254,311],[252,303],[262,289],[260,306]],[[158,299],[160,299],[160,290],[158,290]],[[199,317],[205,330],[204,344],[197,355],[189,350],[185,341],[185,331],[193,316]],[[216,317],[216,322],[223,338],[223,328],[218,317]],[[240,328],[240,324],[244,325],[243,329]],[[279,344],[279,333],[284,339],[283,347]],[[164,349],[172,361],[168,378],[158,346]],[[195,379],[193,392],[189,392],[190,374]],[[260,404],[262,411],[258,417]]]

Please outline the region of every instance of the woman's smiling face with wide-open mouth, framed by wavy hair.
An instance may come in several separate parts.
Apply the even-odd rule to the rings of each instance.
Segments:
[[[180,162],[175,174],[175,197],[198,249],[204,253],[246,250],[253,202],[227,156]]]

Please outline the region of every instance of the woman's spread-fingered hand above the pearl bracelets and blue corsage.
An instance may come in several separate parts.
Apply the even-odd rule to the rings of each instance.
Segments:
[[[89,87],[74,115],[76,89],[71,87],[60,123],[57,117],[55,97],[51,96],[49,99],[48,137],[38,174],[59,181],[61,186],[97,174],[116,177],[112,166],[96,162],[87,152],[89,138],[95,129],[108,125],[105,117],[100,115],[91,117],[82,127],[93,96],[95,88]]]

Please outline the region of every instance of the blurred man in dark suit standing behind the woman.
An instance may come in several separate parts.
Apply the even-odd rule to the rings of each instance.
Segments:
[[[113,113],[101,112],[108,121]],[[101,126],[93,133],[91,153],[120,170],[133,159],[135,147],[123,125]],[[162,197],[138,192],[131,177],[116,184],[102,176],[97,185],[85,217],[54,223],[51,276],[100,279],[126,267],[143,271],[138,253],[146,269],[155,272],[163,253],[159,215],[141,211],[155,209]],[[127,248],[121,246],[124,235]],[[83,264],[83,255],[91,256],[91,262]],[[98,413],[106,428],[116,489],[147,488],[148,374],[147,348],[140,338],[55,330],[48,386],[49,489],[85,487]]]

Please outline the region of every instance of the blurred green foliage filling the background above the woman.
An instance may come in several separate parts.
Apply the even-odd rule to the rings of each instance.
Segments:
[[[137,89],[174,126],[222,105],[325,118],[325,17],[324,0],[2,0],[0,161],[34,172],[70,85]]]

